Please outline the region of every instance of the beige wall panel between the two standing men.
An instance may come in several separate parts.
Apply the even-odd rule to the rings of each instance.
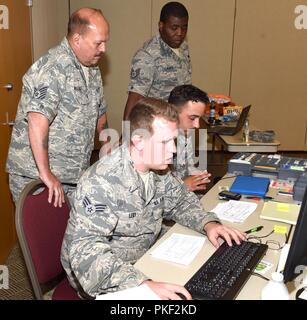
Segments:
[[[101,62],[108,103],[108,122],[121,132],[127,100],[130,62],[136,48],[151,36],[151,0],[71,0],[71,12],[83,6],[99,8],[110,24],[107,53]]]

